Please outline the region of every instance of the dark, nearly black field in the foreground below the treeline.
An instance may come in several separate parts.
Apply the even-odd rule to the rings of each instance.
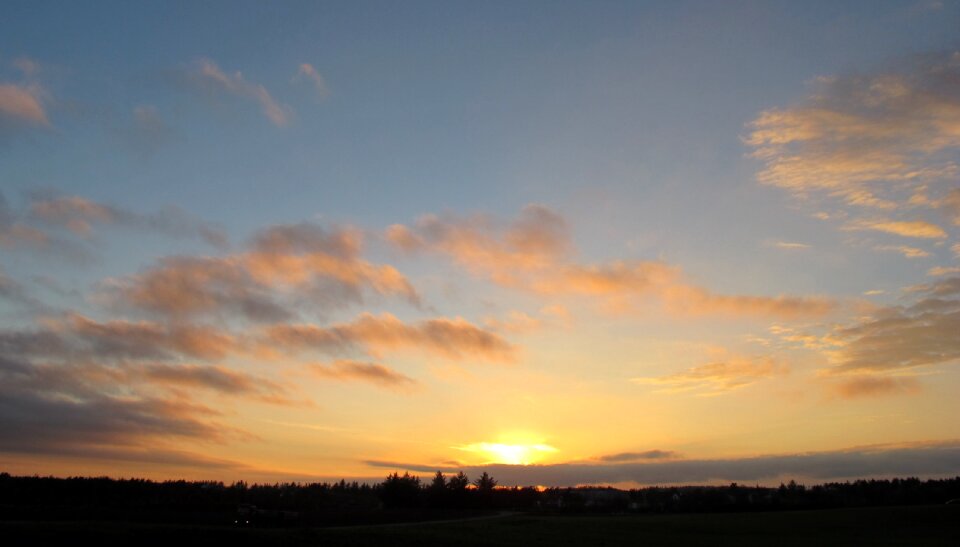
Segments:
[[[960,505],[767,513],[543,516],[350,529],[0,522],[12,545],[960,545]]]

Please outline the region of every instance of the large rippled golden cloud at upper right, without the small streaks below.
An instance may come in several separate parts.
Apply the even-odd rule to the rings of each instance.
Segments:
[[[821,77],[806,101],[762,112],[745,141],[764,163],[761,182],[798,195],[893,208],[898,186],[957,173],[960,53],[906,61],[898,70]]]

